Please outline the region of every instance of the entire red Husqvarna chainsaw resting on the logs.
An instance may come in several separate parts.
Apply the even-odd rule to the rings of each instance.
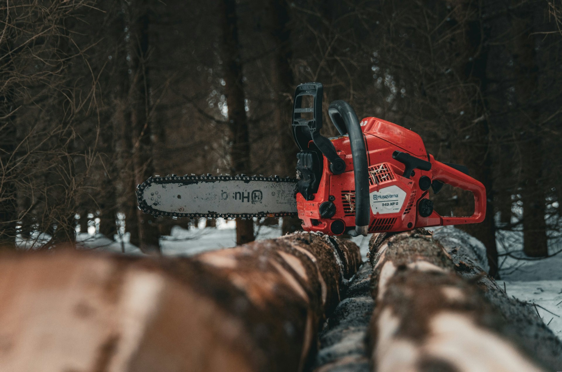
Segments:
[[[323,137],[322,98],[320,83],[298,85],[294,93],[296,178],[155,176],[138,185],[140,210],[173,218],[298,216],[306,231],[351,236],[482,222],[486,189],[466,167],[435,160],[422,138],[400,125],[377,117],[359,121],[345,101],[328,107],[340,135]],[[429,189],[438,193],[443,184],[473,193],[472,216],[433,210]]]

